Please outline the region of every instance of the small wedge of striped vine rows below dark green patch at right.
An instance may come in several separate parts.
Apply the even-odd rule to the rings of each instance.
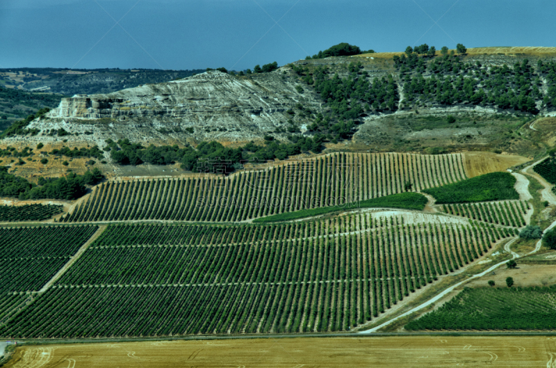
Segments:
[[[473,218],[473,220],[498,225],[523,227],[525,215],[530,208],[525,201],[482,202],[472,204],[441,205],[446,214]]]

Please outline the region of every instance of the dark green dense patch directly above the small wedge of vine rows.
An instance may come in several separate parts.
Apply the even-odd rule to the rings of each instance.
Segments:
[[[517,200],[516,178],[510,173],[490,173],[461,182],[424,189],[436,198],[436,204]]]

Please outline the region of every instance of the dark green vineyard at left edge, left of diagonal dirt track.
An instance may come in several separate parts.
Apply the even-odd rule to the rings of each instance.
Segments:
[[[30,299],[97,231],[97,226],[0,229],[0,322]]]

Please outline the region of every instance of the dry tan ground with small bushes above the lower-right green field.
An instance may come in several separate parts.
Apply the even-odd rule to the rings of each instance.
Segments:
[[[507,269],[505,266],[473,280],[466,287],[485,287],[489,280],[496,282],[496,287],[506,287],[506,278],[514,278],[516,287],[548,286],[556,284],[556,265],[554,264],[523,264],[517,261],[517,269]]]

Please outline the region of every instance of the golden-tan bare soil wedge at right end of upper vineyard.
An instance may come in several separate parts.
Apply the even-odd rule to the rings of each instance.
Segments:
[[[468,177],[505,171],[507,168],[530,161],[530,159],[523,156],[492,152],[466,152],[463,154],[463,157],[464,169]]]

